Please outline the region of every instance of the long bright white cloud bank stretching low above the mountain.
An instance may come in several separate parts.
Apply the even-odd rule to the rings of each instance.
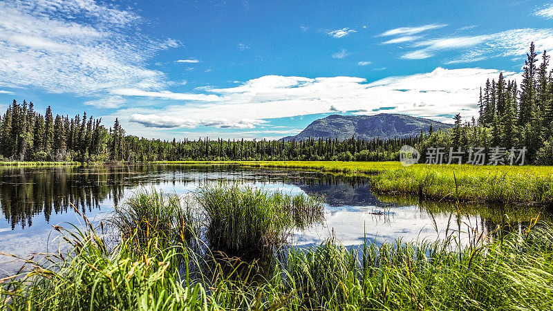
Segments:
[[[388,113],[451,122],[448,117],[451,114],[478,115],[478,90],[487,78],[496,78],[498,74],[498,70],[492,69],[436,68],[431,73],[388,77],[372,83],[360,77],[312,79],[271,75],[233,88],[209,90],[217,96],[216,102],[182,102],[163,109],[129,108],[114,115],[120,120],[133,122],[135,128],[130,126],[129,131],[137,133],[144,132],[143,126],[245,129],[274,118],[335,111],[377,113],[377,109],[384,106],[395,107],[386,111]],[[506,79],[516,77],[515,73],[504,75]]]

